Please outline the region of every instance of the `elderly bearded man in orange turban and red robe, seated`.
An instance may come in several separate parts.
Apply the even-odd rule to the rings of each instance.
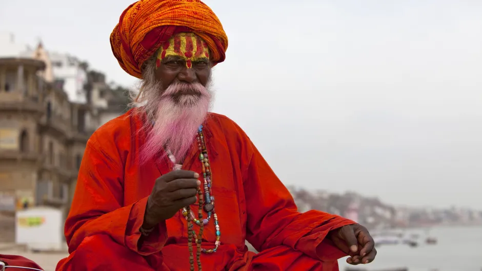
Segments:
[[[246,133],[209,112],[211,68],[228,47],[209,7],[136,2],[111,46],[143,80],[144,105],[88,141],[65,224],[70,256],[57,270],[338,270],[346,255],[374,259],[365,228],[297,212]]]

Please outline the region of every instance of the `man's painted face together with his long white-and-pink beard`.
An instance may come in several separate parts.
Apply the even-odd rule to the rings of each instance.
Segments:
[[[193,33],[179,33],[163,44],[156,60],[148,66],[154,73],[146,72],[154,78],[145,78],[143,85],[149,133],[141,160],[149,161],[164,147],[182,160],[212,104],[208,46]]]

